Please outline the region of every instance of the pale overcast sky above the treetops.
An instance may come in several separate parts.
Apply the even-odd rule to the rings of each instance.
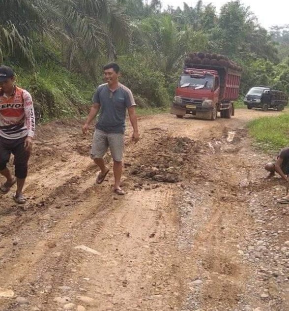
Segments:
[[[174,7],[180,6],[183,8],[183,2],[186,2],[189,6],[195,6],[197,0],[161,0],[163,7],[166,8],[169,5]],[[204,4],[212,3],[216,6],[218,12],[220,7],[229,2],[228,0],[203,0]],[[269,29],[272,25],[284,25],[289,24],[289,0],[241,0],[245,6],[250,6],[251,11],[257,16],[261,26]]]

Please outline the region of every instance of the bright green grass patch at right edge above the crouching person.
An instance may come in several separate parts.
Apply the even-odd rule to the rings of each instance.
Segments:
[[[248,123],[249,133],[256,145],[266,152],[277,152],[289,146],[289,113],[264,117]]]

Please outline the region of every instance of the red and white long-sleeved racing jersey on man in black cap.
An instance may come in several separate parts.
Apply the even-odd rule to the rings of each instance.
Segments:
[[[32,97],[26,90],[15,87],[7,96],[0,89],[0,136],[18,139],[34,136],[35,117]]]

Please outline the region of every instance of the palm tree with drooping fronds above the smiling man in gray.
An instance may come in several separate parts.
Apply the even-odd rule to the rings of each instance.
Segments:
[[[71,5],[72,4],[72,5]],[[74,0],[64,5],[63,27],[69,41],[62,46],[66,65],[88,68],[96,56],[106,51],[107,57],[116,58],[116,45],[128,40],[129,24],[120,4],[113,0]]]

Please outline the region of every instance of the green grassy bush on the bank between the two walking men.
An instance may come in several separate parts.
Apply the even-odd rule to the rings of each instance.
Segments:
[[[72,117],[88,111],[95,87],[83,76],[52,62],[42,64],[35,72],[13,68],[17,84],[31,93],[42,120]]]

